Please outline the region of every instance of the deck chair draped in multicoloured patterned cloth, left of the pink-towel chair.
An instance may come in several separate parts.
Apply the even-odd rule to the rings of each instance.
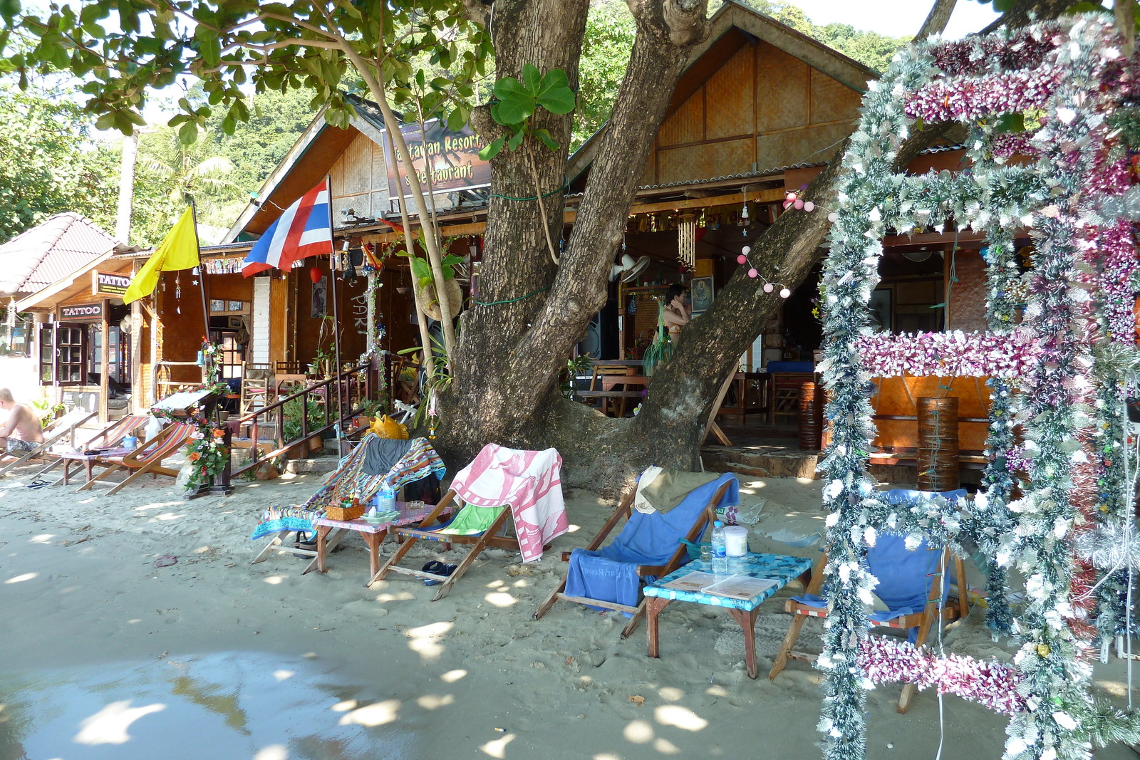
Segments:
[[[253,529],[253,534],[250,539],[255,541],[269,534],[272,534],[272,538],[250,564],[264,561],[276,549],[288,554],[312,557],[312,562],[304,569],[304,572],[315,570],[317,567],[317,550],[315,548],[285,546],[283,540],[288,533],[293,531],[298,531],[299,533],[315,532],[316,526],[312,524],[312,521],[324,517],[325,509],[329,505],[337,504],[341,499],[356,498],[365,502],[372,499],[384,485],[398,492],[408,483],[414,483],[429,475],[442,477],[447,473],[443,460],[431,448],[427,439],[417,438],[409,442],[407,451],[386,473],[368,475],[364,472],[364,459],[373,439],[380,440],[375,433],[368,433],[358,447],[341,459],[336,469],[328,473],[325,482],[304,504],[300,506],[275,504],[261,514],[261,520],[258,521],[258,525]],[[327,550],[332,551],[341,538],[341,534],[335,536],[329,541]]]

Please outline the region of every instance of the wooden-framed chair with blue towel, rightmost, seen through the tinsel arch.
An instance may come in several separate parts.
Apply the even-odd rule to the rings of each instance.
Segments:
[[[953,493],[953,492],[951,492]],[[964,491],[961,493],[964,495]],[[872,621],[871,626],[877,628],[912,629],[918,628],[914,636],[915,646],[923,646],[930,635],[930,628],[940,619],[943,622],[951,622],[964,618],[970,612],[969,594],[966,589],[966,565],[961,557],[952,556],[948,547],[931,547],[925,542],[913,551],[905,551],[906,555],[914,555],[905,561],[905,571],[891,578],[888,573],[899,549],[905,549],[905,538],[902,536],[879,534],[876,546],[868,551],[868,564],[871,572],[879,578],[879,586],[876,593],[886,597],[890,594],[918,595],[926,599],[921,612],[899,614],[895,618]],[[919,554],[922,553],[922,554]],[[925,555],[925,556],[923,556]],[[948,581],[945,574],[950,571],[953,562],[958,581],[956,603],[951,605],[947,597]],[[821,553],[815,566],[812,569],[812,581],[807,586],[807,591],[803,597],[793,597],[784,603],[784,612],[792,614],[792,622],[784,636],[783,644],[776,653],[768,679],[775,680],[780,671],[784,669],[788,659],[806,660],[812,662],[815,655],[796,652],[796,640],[799,638],[800,629],[808,618],[826,618],[826,600],[819,596],[823,588],[823,569],[828,564],[828,553]],[[898,712],[906,712],[911,706],[911,697],[914,694],[914,684],[905,684],[903,693],[898,697]]]

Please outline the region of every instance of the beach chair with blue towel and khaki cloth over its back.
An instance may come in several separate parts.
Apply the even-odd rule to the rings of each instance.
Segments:
[[[644,500],[638,498],[638,491]],[[649,510],[644,501],[650,502]],[[617,610],[630,618],[621,631],[626,638],[645,616],[644,583],[689,562],[681,539],[699,540],[709,522],[716,520],[718,506],[739,501],[740,483],[732,473],[717,477],[715,473],[669,473],[657,467],[646,471],[586,548],[563,556],[569,558],[570,570],[538,606],[535,620],[559,599]],[[618,537],[600,549],[622,520],[626,524]]]

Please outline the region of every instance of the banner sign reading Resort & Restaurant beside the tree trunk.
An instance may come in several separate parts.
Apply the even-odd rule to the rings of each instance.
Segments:
[[[486,142],[482,138],[464,126],[462,131],[453,132],[438,119],[432,119],[420,130],[420,124],[405,124],[400,128],[404,140],[412,154],[412,169],[420,179],[420,186],[427,191],[427,172],[431,171],[431,189],[434,193],[451,190],[469,190],[487,187],[491,183],[491,165],[479,157]],[[397,197],[396,157],[389,152],[388,140],[384,140],[384,162],[388,165],[388,194]],[[408,167],[400,164],[400,182],[402,195],[412,193],[408,182]]]

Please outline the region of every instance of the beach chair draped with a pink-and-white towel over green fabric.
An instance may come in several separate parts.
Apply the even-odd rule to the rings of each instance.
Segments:
[[[451,482],[435,509],[418,528],[398,528],[404,544],[368,581],[384,580],[392,571],[437,581],[432,602],[442,599],[483,549],[496,547],[522,554],[523,562],[537,562],[549,541],[569,530],[562,501],[562,457],[555,449],[520,451],[488,443]],[[463,506],[447,523],[439,522],[453,501]],[[514,537],[505,534],[506,518],[514,522]],[[471,549],[449,573],[401,567],[400,561],[421,539],[463,544]],[[429,563],[430,564],[430,563]]]

